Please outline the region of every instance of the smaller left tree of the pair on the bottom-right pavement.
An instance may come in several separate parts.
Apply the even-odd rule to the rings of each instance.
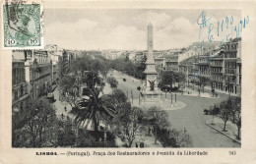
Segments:
[[[226,132],[225,127],[226,127],[226,122],[230,119],[230,109],[231,104],[230,101],[222,101],[220,104],[220,118],[224,121],[224,132]]]

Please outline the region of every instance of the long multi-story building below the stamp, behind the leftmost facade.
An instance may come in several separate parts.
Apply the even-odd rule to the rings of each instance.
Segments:
[[[13,51],[13,57],[25,63],[25,81],[32,98],[51,91],[52,62],[45,50]]]

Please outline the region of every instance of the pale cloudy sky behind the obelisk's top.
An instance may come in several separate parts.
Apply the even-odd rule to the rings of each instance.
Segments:
[[[209,19],[204,27],[198,25],[202,12]],[[154,49],[182,48],[210,41],[211,35],[211,41],[226,39],[228,33],[228,37],[235,37],[233,26],[241,19],[240,14],[238,10],[45,9],[44,40],[45,44],[67,49],[146,50],[147,26],[151,23]],[[223,20],[224,29],[220,31]]]

